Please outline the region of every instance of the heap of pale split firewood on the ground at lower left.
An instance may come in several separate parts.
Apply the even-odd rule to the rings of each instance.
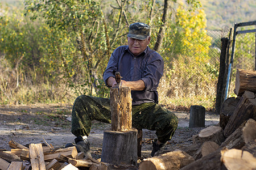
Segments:
[[[53,148],[43,146],[42,143],[31,143],[29,147],[14,141],[9,142],[11,151],[0,151],[0,169],[25,170],[25,169],[51,169],[51,170],[107,170],[107,169],[137,169],[132,165],[113,165],[91,156],[84,156],[83,152],[77,153],[76,147]]]

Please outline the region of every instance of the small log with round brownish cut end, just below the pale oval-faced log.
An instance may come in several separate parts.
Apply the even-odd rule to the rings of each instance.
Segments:
[[[201,147],[199,148],[199,150],[195,152],[195,154],[193,155],[193,158],[195,160],[200,159],[203,156],[206,156],[218,150],[218,148],[220,148],[220,146],[218,146],[218,144],[213,141],[204,142],[203,145],[201,145]]]

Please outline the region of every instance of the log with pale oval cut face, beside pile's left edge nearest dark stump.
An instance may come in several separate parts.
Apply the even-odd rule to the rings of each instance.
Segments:
[[[220,145],[224,140],[225,137],[220,126],[209,126],[208,128],[201,130],[199,134],[192,136],[192,141],[194,144],[213,141]]]

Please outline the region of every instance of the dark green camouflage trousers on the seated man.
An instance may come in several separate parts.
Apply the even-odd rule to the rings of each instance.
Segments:
[[[88,136],[92,121],[111,123],[110,100],[82,95],[77,97],[72,110],[71,132],[76,136]],[[160,142],[169,141],[177,129],[174,113],[155,103],[143,103],[132,107],[132,126],[137,129],[156,130]]]

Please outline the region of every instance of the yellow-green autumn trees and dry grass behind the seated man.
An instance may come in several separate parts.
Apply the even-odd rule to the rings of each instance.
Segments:
[[[16,1],[13,1],[14,3]],[[163,1],[24,1],[0,4],[1,104],[72,103],[109,97],[102,73],[133,22],[151,26],[151,49],[163,25]],[[20,6],[20,5],[19,5]],[[214,109],[220,38],[207,30],[199,1],[170,1],[163,42],[160,103]]]

